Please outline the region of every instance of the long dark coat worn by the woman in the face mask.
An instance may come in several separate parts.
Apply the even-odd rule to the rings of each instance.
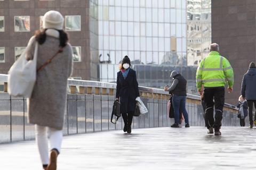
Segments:
[[[133,113],[135,108],[135,99],[140,96],[136,72],[130,68],[126,79],[121,71],[117,73],[116,80],[116,98],[120,97],[120,112]]]

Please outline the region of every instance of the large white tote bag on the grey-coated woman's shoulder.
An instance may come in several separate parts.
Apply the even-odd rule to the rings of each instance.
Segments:
[[[26,48],[9,70],[7,90],[11,96],[30,98],[36,82],[37,52],[36,42],[33,60],[26,60]]]

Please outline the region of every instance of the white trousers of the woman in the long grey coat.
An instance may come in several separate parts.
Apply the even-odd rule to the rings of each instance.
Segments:
[[[60,152],[62,142],[62,131],[46,126],[35,125],[36,143],[38,146],[39,154],[43,165],[49,164],[49,148],[47,130],[49,130],[49,141],[52,149],[57,149]]]

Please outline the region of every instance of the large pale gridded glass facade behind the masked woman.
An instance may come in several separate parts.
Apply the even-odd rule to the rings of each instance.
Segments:
[[[99,0],[98,19],[100,81],[116,82],[125,55],[140,86],[163,87],[172,70],[187,70],[186,0]]]

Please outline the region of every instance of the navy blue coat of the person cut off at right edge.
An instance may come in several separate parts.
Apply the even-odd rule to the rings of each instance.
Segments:
[[[242,81],[241,94],[246,100],[256,100],[256,69],[250,68],[247,73],[244,74]]]

